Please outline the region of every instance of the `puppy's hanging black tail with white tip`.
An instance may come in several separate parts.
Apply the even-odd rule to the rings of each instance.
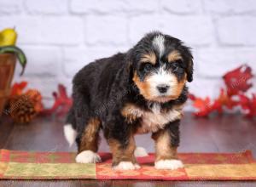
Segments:
[[[73,108],[68,111],[66,124],[63,127],[64,136],[67,139],[69,146],[71,146],[77,138],[76,121]]]

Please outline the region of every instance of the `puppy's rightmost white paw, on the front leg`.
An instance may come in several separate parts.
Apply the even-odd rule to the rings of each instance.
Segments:
[[[177,169],[177,168],[182,168],[183,167],[183,162],[180,160],[160,160],[154,162],[154,167],[156,169]]]

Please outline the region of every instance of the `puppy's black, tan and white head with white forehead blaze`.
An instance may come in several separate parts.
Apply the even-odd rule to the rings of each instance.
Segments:
[[[192,81],[192,55],[177,38],[151,33],[133,50],[133,82],[145,99],[160,103],[177,99],[185,83]]]

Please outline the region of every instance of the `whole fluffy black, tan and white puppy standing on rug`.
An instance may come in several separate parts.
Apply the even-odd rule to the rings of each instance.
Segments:
[[[148,33],[127,53],[85,65],[73,78],[73,107],[64,133],[79,152],[76,161],[101,161],[102,129],[114,169],[137,169],[136,133],[152,133],[155,167],[177,169],[179,123],[193,77],[193,57],[175,37]]]

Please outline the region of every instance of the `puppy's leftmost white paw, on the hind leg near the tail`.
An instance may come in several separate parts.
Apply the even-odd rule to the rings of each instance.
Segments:
[[[84,150],[76,156],[76,161],[78,163],[96,163],[101,162],[101,157],[91,150]]]

